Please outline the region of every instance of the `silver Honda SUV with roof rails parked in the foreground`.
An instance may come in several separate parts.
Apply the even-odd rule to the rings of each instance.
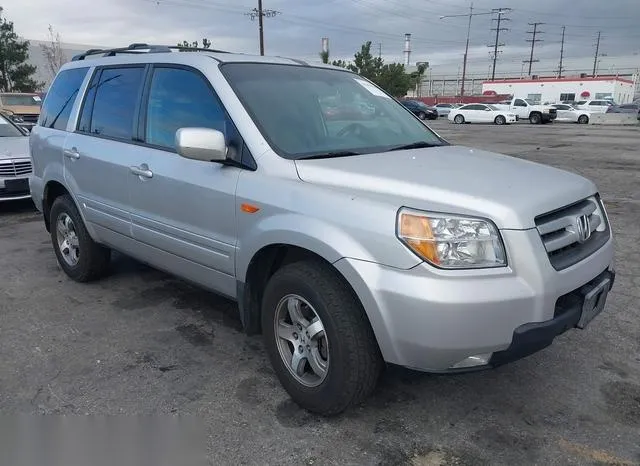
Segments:
[[[120,251],[238,303],[306,409],[382,369],[495,367],[599,314],[611,227],[578,175],[448,143],[370,81],[132,44],[62,67],[30,136],[64,272]]]

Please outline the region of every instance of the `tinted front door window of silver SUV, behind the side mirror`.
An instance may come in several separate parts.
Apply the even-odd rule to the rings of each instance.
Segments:
[[[222,105],[207,81],[194,71],[155,68],[146,115],[145,141],[156,146],[175,149],[179,128],[204,127],[227,134]]]

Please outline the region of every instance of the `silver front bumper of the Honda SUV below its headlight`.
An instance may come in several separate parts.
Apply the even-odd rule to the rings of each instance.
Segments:
[[[507,251],[517,256],[499,269],[445,271],[423,263],[400,270],[347,258],[335,263],[360,298],[387,362],[450,372],[468,358],[488,355],[486,366],[500,365],[548,346],[573,326],[573,312],[555,320],[558,304],[610,269],[612,239],[556,271],[536,230],[502,234]]]

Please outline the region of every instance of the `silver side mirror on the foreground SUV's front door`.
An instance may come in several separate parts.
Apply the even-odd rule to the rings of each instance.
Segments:
[[[227,159],[224,134],[210,128],[180,128],[176,131],[176,149],[187,159],[223,162]]]

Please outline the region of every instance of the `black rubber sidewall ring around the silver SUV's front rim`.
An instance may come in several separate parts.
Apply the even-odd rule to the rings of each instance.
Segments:
[[[338,325],[328,311],[330,303],[309,282],[284,269],[282,272],[272,277],[262,302],[262,333],[272,366],[285,390],[301,406],[321,414],[342,411],[351,399],[351,396],[344,393],[352,370],[348,342],[341,341]],[[285,366],[278,351],[273,322],[278,303],[288,294],[297,294],[306,299],[324,325],[329,343],[329,368],[325,379],[317,387],[306,387],[298,382]]]

